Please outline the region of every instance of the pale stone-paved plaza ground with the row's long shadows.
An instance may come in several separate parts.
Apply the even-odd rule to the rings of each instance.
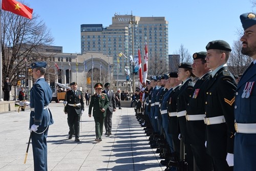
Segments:
[[[164,170],[160,158],[148,144],[133,108],[113,114],[110,137],[96,143],[93,117],[88,106],[82,115],[80,142],[68,139],[67,116],[63,104],[52,102],[54,124],[48,132],[48,170]],[[32,146],[24,164],[30,132],[29,108],[25,112],[0,113],[0,170],[33,170]],[[104,131],[103,131],[104,134]],[[31,145],[31,144],[30,144]]]

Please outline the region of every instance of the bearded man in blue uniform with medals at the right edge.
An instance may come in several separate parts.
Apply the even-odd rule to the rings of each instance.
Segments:
[[[256,14],[240,16],[244,28],[242,53],[253,62],[240,78],[234,101],[234,170],[255,170],[256,163]]]

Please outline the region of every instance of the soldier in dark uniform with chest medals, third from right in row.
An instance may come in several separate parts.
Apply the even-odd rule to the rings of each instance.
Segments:
[[[206,153],[205,147],[205,89],[210,77],[210,69],[206,65],[206,52],[194,53],[192,64],[193,74],[198,80],[189,96],[186,106],[186,125],[187,136],[190,139],[191,149],[196,161],[198,171],[211,171],[212,162],[210,156]]]

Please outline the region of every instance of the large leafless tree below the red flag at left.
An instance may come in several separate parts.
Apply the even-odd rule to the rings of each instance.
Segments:
[[[2,10],[2,61],[3,77],[10,78],[12,85],[24,79],[28,66],[35,60],[47,60],[42,54],[42,47],[51,45],[53,38],[50,31],[38,16],[25,17]],[[31,75],[30,75],[31,76]]]

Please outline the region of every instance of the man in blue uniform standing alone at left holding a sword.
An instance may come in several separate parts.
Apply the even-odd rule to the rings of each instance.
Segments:
[[[32,63],[33,78],[36,79],[30,90],[30,121],[34,170],[47,170],[47,134],[49,125],[53,124],[52,114],[48,108],[52,100],[52,90],[45,81],[47,63]]]

